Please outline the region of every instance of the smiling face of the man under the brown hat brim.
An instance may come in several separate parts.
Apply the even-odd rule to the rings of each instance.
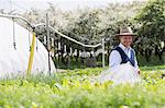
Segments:
[[[130,47],[132,44],[132,36],[120,36],[120,43],[124,47]]]

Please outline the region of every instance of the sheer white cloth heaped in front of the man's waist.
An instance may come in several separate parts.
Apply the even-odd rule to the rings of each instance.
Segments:
[[[110,68],[107,71],[102,72],[98,77],[100,83],[112,81],[114,84],[120,83],[135,83],[140,82],[140,75],[136,70],[130,64],[124,63]]]

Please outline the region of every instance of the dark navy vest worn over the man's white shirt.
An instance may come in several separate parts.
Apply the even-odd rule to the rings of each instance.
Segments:
[[[117,50],[117,51],[120,53],[121,60],[122,60],[120,64],[127,63],[128,61],[130,61],[133,67],[135,65],[134,51],[133,51],[133,50],[131,50],[131,58],[129,58],[129,57],[125,55],[125,52],[124,52],[119,46],[117,46],[117,47],[116,47],[114,49],[112,49],[112,50]]]

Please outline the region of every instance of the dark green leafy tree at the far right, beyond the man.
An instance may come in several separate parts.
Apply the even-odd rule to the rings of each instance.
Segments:
[[[141,25],[138,34],[141,48],[144,49],[146,60],[150,60],[154,49],[160,60],[163,60],[163,43],[165,43],[165,1],[153,0],[139,13],[135,19]]]

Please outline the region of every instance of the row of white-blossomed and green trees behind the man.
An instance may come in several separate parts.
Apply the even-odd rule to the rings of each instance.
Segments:
[[[75,38],[84,44],[98,44],[102,38],[106,38],[107,64],[110,50],[118,44],[116,34],[119,33],[121,26],[131,26],[138,37],[134,39],[133,48],[139,55],[140,65],[146,64],[164,64],[165,53],[165,1],[164,0],[148,0],[148,1],[133,1],[127,3],[109,3],[102,8],[85,8],[75,9],[72,11],[62,11],[56,5],[48,3],[50,8],[46,10],[26,11],[22,14],[32,24],[44,23],[45,14],[48,13],[50,24],[61,33]],[[0,10],[6,13],[4,10]],[[13,12],[9,12],[12,14]],[[16,13],[16,11],[14,12]],[[21,25],[25,24],[18,21]],[[26,26],[25,26],[26,27]],[[46,31],[43,27],[36,29],[37,36],[44,43]],[[81,51],[96,51],[99,48],[84,48],[67,39],[64,39],[54,32],[51,32],[51,37],[55,38],[55,46],[52,50],[55,52],[54,60],[58,60],[59,64],[67,65],[66,58],[69,48]],[[61,49],[57,49],[61,43]],[[64,52],[64,45],[67,46],[67,52]],[[46,45],[45,45],[46,46]],[[58,53],[58,57],[56,57]],[[76,62],[79,57],[73,56]],[[97,61],[99,61],[97,57]],[[145,60],[144,60],[145,59]],[[157,61],[160,60],[160,61]],[[146,61],[145,63],[143,61]],[[155,61],[155,62],[154,62]],[[74,61],[72,61],[74,62]],[[82,62],[81,62],[82,65]],[[98,64],[99,65],[99,64]]]

